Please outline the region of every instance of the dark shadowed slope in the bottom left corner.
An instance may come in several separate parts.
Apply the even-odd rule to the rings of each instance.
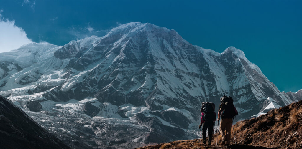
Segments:
[[[69,148],[0,95],[0,148]]]

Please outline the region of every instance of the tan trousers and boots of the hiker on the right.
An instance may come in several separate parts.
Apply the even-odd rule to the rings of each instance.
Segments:
[[[226,141],[226,144],[231,144],[231,128],[233,119],[221,119],[220,120],[220,134],[222,142]],[[224,131],[226,130],[226,135]]]

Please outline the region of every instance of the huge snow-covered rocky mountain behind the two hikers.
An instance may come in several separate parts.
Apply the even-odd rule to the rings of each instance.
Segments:
[[[194,138],[201,102],[218,107],[223,94],[233,97],[238,118],[302,99],[301,90],[280,92],[239,49],[203,49],[149,23],[64,46],[32,43],[0,57],[0,94],[73,145]]]

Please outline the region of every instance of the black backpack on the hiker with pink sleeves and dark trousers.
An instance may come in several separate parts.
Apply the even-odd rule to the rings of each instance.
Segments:
[[[201,105],[201,122],[215,122],[215,104],[210,102],[202,102]]]

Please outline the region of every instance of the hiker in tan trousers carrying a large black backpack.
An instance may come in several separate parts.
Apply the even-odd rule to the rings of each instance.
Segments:
[[[220,120],[221,116],[219,129],[222,139],[221,145],[224,146],[226,144],[226,146],[228,146],[231,144],[231,128],[233,123],[233,117],[238,115],[238,112],[233,104],[232,97],[227,97],[223,95],[223,97],[220,98],[220,102],[221,104],[219,105],[217,121]]]

